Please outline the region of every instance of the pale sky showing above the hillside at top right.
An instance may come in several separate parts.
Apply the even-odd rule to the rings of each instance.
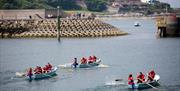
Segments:
[[[141,1],[146,2],[149,0],[141,0]],[[159,1],[169,3],[172,8],[180,8],[180,0],[159,0]]]

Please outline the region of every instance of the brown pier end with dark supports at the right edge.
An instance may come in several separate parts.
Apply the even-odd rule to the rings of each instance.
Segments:
[[[165,14],[156,17],[157,36],[180,36],[180,15]]]

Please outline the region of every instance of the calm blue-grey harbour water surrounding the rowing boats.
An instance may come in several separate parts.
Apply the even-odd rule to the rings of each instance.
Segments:
[[[141,26],[134,27],[135,21]],[[57,39],[1,39],[0,91],[129,91],[126,79],[140,71],[154,69],[160,75],[160,91],[180,89],[180,38],[157,39],[154,20],[106,20],[123,31],[126,36],[107,38]],[[74,57],[96,55],[108,68],[59,69],[58,76],[28,82],[17,78],[16,72],[28,67],[44,66],[47,62],[57,66],[72,62]],[[114,79],[122,84],[106,85]],[[147,89],[145,91],[154,91]]]

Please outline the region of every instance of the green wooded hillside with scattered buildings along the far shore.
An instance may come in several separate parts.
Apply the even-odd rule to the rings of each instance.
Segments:
[[[171,10],[167,3],[153,0],[152,4],[142,3],[141,0],[0,0],[0,9],[52,9],[63,10],[88,10],[88,11],[108,11],[116,7],[119,13],[143,12],[152,14],[154,12],[164,12],[165,8]],[[114,6],[113,6],[114,5]]]

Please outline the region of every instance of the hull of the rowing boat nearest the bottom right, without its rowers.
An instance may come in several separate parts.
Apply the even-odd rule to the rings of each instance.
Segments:
[[[147,88],[154,88],[159,86],[159,75],[155,75],[154,80],[147,83],[135,83],[134,86],[128,84],[128,88],[130,89],[147,89]]]

